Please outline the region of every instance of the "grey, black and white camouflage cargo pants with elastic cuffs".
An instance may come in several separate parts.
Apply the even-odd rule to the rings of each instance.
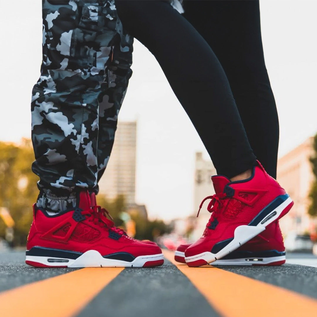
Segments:
[[[43,1],[43,61],[32,91],[38,204],[98,191],[132,75],[133,38],[114,1]],[[41,198],[42,197],[42,198]],[[42,199],[42,200],[41,200]],[[45,200],[45,202],[44,202]],[[66,205],[65,205],[66,204]]]

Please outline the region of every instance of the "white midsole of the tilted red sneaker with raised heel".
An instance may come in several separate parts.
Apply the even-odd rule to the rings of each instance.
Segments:
[[[194,256],[188,256],[188,257],[185,257],[186,263],[194,262],[197,260],[204,260],[207,263],[212,263],[212,262],[215,262],[217,259],[221,259],[222,257],[238,249],[241,245],[248,242],[249,240],[257,236],[259,233],[264,231],[265,228],[270,223],[274,222],[281,215],[283,210],[292,202],[293,202],[292,199],[288,197],[288,199],[286,199],[282,204],[280,204],[278,207],[276,207],[274,210],[271,211],[270,214],[273,214],[274,212],[276,212],[276,215],[271,217],[267,222],[263,224],[261,224],[261,221],[263,220],[262,219],[256,226],[241,225],[236,227],[234,231],[233,240],[230,243],[228,243],[219,252],[217,253],[203,252]],[[266,215],[264,219],[267,218],[269,215]]]

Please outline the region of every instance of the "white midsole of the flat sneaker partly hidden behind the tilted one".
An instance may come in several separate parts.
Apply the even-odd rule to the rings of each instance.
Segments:
[[[175,256],[185,258],[185,252],[175,251]],[[271,256],[271,257],[249,257],[249,258],[236,258],[228,260],[216,260],[209,263],[209,265],[263,265],[274,262],[285,261],[285,256]]]

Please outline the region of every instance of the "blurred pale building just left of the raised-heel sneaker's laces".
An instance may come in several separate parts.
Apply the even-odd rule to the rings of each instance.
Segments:
[[[194,206],[193,213],[197,213],[202,200],[215,193],[212,185],[211,176],[216,175],[216,169],[211,160],[205,160],[201,152],[196,152],[195,158],[195,174],[194,174]],[[208,204],[206,202],[205,204]],[[210,218],[210,213],[207,211],[207,206],[201,210],[197,218],[197,224],[191,234],[191,239],[197,240],[201,237],[206,223]]]

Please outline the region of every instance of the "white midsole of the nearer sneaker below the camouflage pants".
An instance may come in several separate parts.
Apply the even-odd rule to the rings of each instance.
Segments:
[[[89,250],[79,256],[76,260],[66,259],[66,258],[57,258],[53,256],[26,256],[27,261],[42,263],[47,266],[67,266],[68,268],[142,268],[146,262],[163,260],[164,256],[162,253],[154,254],[149,256],[137,256],[132,262],[126,262],[121,260],[114,259],[105,259],[101,254],[96,250]],[[49,261],[50,260],[50,261]],[[52,262],[56,261],[56,262]],[[58,262],[65,261],[68,262]]]

